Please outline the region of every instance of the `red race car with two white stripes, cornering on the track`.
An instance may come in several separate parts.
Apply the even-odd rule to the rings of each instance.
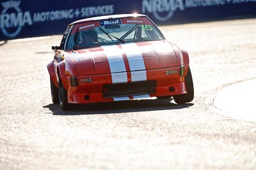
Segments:
[[[77,20],[52,50],[51,96],[62,110],[147,97],[193,101],[188,52],[166,41],[146,15]]]

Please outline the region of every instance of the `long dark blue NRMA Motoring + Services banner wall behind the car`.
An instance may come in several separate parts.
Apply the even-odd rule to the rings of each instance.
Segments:
[[[0,1],[0,40],[61,34],[82,18],[142,13],[156,24],[256,17],[256,0]]]

